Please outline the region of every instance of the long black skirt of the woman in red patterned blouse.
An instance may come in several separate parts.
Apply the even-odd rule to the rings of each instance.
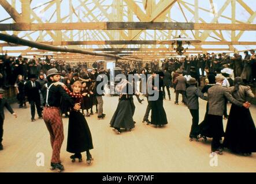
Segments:
[[[75,154],[92,148],[92,137],[86,118],[79,111],[71,111],[69,114],[66,151]]]

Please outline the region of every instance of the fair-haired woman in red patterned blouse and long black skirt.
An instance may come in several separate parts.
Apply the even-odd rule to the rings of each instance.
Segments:
[[[80,103],[83,99],[81,93],[81,82],[76,81],[72,85],[73,93],[64,86],[66,93],[68,93],[75,103]],[[71,110],[69,113],[69,124],[68,124],[68,143],[66,151],[71,152],[75,155],[71,156],[72,162],[78,158],[79,162],[82,160],[81,152],[86,151],[87,159],[86,162],[90,164],[92,162],[92,156],[90,151],[93,149],[92,137],[90,128],[88,127],[86,118],[80,110]]]

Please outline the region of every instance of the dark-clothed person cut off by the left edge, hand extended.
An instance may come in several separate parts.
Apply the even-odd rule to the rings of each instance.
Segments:
[[[3,108],[6,107],[6,109],[13,114],[14,117],[17,118],[17,114],[14,113],[13,109],[11,108],[8,100],[3,97],[3,93],[5,93],[5,90],[0,89],[0,150],[3,150],[2,140],[3,140],[3,121],[5,120],[5,113],[3,111]]]

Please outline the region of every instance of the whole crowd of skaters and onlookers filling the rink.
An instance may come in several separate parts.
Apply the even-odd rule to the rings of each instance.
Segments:
[[[161,66],[158,61],[116,63],[116,66],[123,70],[125,78],[120,79],[115,86],[119,98],[110,127],[117,134],[122,132],[121,129],[131,131],[135,128],[133,115],[136,107],[133,96],[142,103],[140,94],[147,98],[143,122],[155,127],[164,127],[168,124],[167,117],[170,115],[166,116],[163,104],[166,99],[165,88],[171,100],[169,89],[173,87],[176,93],[175,104],[179,105],[179,94],[182,94],[182,102],[188,107],[192,116],[190,140],[198,140],[201,137],[206,140],[206,137],[212,137],[211,152],[217,154],[222,154],[223,147],[244,155],[256,152],[256,129],[249,110],[254,94],[247,86],[249,83],[255,83],[256,56],[255,51],[250,52],[251,56],[245,52],[244,59],[238,54],[229,57],[225,53],[218,56],[212,53],[212,55],[190,56],[184,59],[166,59],[161,62]],[[105,94],[106,86],[101,83],[105,76],[110,81],[112,71],[105,70],[101,62],[95,63],[95,68],[89,69],[83,64],[71,67],[64,61],[51,61],[47,58],[40,61],[36,57],[27,62],[22,56],[14,60],[5,55],[0,63],[2,87],[6,87],[9,82],[13,83],[16,87],[19,107],[27,108],[28,101],[31,121],[35,121],[36,109],[38,117],[43,118],[46,123],[53,148],[51,158],[53,169],[57,168],[60,171],[64,169],[60,162],[60,149],[64,139],[62,114],[69,118],[67,151],[74,154],[71,159],[74,161],[77,158],[81,161],[81,152],[86,151],[87,162],[91,163],[92,156],[89,150],[93,148],[92,135],[85,117],[93,115],[92,108],[96,106],[98,120],[105,118],[102,96]],[[139,81],[129,81],[129,74],[139,78]],[[10,77],[10,75],[14,76]],[[143,78],[143,75],[146,75],[146,78]],[[199,87],[202,76],[206,78],[206,85],[201,90]],[[145,93],[142,89],[143,80],[146,80],[147,86]],[[139,82],[138,85],[135,85],[136,82]],[[157,99],[151,100],[154,94],[150,93],[150,90],[157,91]],[[199,97],[207,101],[205,119],[201,124],[199,124]],[[228,101],[232,103],[229,116]],[[9,104],[6,108],[17,116]],[[222,123],[223,116],[228,118],[226,133]],[[221,144],[222,137],[224,137],[223,144]]]

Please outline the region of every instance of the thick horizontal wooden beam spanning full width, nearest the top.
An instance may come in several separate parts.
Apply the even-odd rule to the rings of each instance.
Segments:
[[[33,16],[35,16],[32,11]],[[254,18],[254,17],[253,17]],[[251,18],[251,19],[253,19]],[[0,30],[256,30],[256,24],[193,22],[72,22],[0,24]]]

